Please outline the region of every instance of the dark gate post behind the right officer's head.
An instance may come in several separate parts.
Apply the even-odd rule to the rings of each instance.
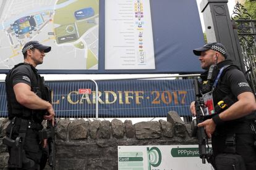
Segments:
[[[205,31],[208,42],[220,42],[229,54],[229,58],[245,71],[243,57],[237,49],[236,38],[234,36],[233,25],[231,23],[228,0],[202,0],[200,10],[203,12]]]

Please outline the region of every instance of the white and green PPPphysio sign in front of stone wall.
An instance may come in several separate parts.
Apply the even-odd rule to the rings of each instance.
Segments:
[[[198,145],[118,146],[119,170],[211,170]]]

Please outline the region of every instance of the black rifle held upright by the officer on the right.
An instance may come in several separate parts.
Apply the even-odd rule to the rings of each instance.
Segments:
[[[203,108],[205,103],[203,101],[202,94],[200,93],[198,79],[194,78],[194,88],[195,88],[195,111],[197,113],[194,124],[195,132],[197,133],[198,147],[199,147],[199,156],[202,159],[203,164],[205,164],[205,159],[208,158],[209,154],[207,152],[208,139],[207,134],[205,133],[204,127],[197,127],[198,123],[203,122],[204,112]],[[194,132],[194,133],[195,133]],[[192,130],[193,134],[193,130]],[[193,136],[193,135],[192,135]]]

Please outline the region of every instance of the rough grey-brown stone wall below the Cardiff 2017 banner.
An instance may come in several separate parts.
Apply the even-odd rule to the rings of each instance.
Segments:
[[[6,169],[8,153],[2,137],[9,123],[0,121],[0,169]],[[132,124],[126,120],[85,121],[58,119],[56,128],[56,169],[118,169],[119,145],[184,145],[197,144],[190,137],[190,124],[185,124],[175,111],[167,121],[147,121]],[[50,169],[46,167],[46,169]]]

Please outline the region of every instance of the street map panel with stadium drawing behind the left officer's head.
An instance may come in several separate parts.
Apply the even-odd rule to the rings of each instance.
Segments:
[[[0,23],[0,70],[32,40],[52,47],[39,69],[98,70],[99,0],[2,0]]]

